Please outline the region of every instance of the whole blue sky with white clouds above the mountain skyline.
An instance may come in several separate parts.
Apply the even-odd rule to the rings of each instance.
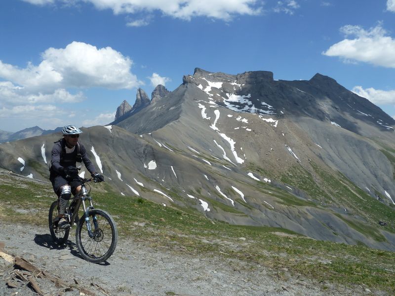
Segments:
[[[92,126],[196,67],[328,75],[395,115],[395,0],[1,0],[0,130]]]

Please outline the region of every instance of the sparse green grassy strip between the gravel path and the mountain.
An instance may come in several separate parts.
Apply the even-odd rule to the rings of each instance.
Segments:
[[[11,175],[0,175],[0,181],[1,222],[46,226],[49,205],[55,200],[50,184]],[[264,266],[284,280],[309,278],[323,291],[330,282],[395,294],[392,252],[316,241],[286,229],[211,221],[191,210],[106,193],[104,187],[92,185],[94,204],[113,215],[123,238],[191,256],[239,259],[251,272]]]

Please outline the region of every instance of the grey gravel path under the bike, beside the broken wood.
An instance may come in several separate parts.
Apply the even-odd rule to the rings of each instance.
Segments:
[[[312,296],[368,295],[362,287],[351,291],[342,287],[313,284],[287,276],[284,281],[273,271],[223,258],[193,258],[180,252],[164,252],[142,243],[120,239],[114,255],[105,264],[94,264],[79,257],[74,237],[65,248],[53,245],[48,230],[0,222],[3,252],[20,256],[41,270],[60,277],[74,287],[59,287],[38,278],[44,295],[133,295],[133,296]],[[0,258],[0,295],[37,295],[29,285],[8,288],[14,267]],[[286,271],[284,271],[286,273]],[[77,283],[77,284],[76,284]],[[94,284],[94,285],[92,285]],[[97,285],[97,286],[95,286]],[[85,290],[83,290],[85,289]],[[69,291],[70,290],[70,291]]]

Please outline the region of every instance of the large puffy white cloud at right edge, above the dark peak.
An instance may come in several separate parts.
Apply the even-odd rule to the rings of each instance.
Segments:
[[[323,55],[395,68],[395,39],[386,36],[381,24],[369,31],[351,25],[342,27],[340,31],[346,39],[333,44]],[[348,39],[348,36],[354,36],[354,39]]]

